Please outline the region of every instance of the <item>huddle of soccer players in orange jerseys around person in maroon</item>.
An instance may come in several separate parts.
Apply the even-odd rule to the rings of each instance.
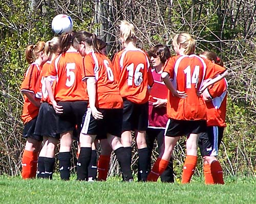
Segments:
[[[60,141],[60,177],[69,180],[76,138],[77,180],[106,181],[114,151],[123,181],[131,182],[134,135],[138,181],[156,182],[161,175],[162,182],[174,182],[172,151],[186,136],[182,183],[190,182],[199,146],[205,183],[224,184],[215,157],[226,125],[227,71],[222,61],[212,52],[196,55],[196,41],[188,33],[174,36],[177,55],[171,57],[162,44],[147,53],[137,48],[132,23],[122,20],[119,29],[123,49],[112,62],[106,57],[107,44],[86,31],[27,47],[30,65],[20,88],[27,139],[23,179],[52,179]],[[159,157],[151,169],[156,138]],[[101,147],[97,165],[95,143]]]

